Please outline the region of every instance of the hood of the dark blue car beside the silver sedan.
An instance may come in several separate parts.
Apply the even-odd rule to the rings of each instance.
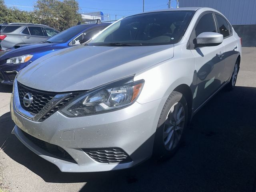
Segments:
[[[20,45],[15,46],[15,48],[10,48],[0,52],[0,60],[7,58],[21,56],[25,54],[33,54],[35,52],[51,50],[55,44],[52,43],[40,43],[40,44],[30,44],[30,45]]]

